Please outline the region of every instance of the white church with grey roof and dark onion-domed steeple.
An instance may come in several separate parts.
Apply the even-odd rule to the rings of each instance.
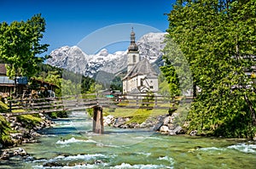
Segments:
[[[124,94],[158,92],[158,75],[148,59],[140,58],[133,29],[127,54],[127,74],[122,82]]]

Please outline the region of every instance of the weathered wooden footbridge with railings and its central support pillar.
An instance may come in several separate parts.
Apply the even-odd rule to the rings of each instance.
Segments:
[[[175,110],[175,104],[189,103],[191,100],[191,97],[170,99],[148,94],[106,96],[95,93],[60,98],[13,99],[9,100],[9,113],[4,115],[28,115],[93,108],[93,132],[103,133],[103,108]]]

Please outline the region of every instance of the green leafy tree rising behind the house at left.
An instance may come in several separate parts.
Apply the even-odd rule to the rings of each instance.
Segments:
[[[0,59],[4,61],[7,75],[31,77],[36,74],[38,64],[44,57],[37,57],[47,51],[48,44],[40,44],[45,31],[45,20],[41,14],[30,20],[14,21],[10,25],[0,24]]]

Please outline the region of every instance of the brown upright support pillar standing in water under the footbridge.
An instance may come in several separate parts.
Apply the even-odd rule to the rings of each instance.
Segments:
[[[102,134],[104,132],[102,107],[96,106],[93,109],[94,111],[92,131]]]

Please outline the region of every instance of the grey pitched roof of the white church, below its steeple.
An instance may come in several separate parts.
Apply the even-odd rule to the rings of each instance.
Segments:
[[[157,77],[157,73],[153,70],[148,59],[144,58],[137,63],[131,70],[127,73],[124,79],[133,76],[146,75],[147,77]]]

